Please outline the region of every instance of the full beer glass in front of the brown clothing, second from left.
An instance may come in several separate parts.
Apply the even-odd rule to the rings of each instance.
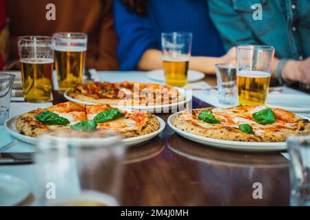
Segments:
[[[87,50],[87,34],[63,32],[53,35],[59,91],[82,83]]]

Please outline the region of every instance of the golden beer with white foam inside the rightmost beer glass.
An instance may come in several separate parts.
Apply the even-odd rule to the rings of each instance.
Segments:
[[[237,74],[238,101],[241,105],[263,105],[266,102],[270,76],[268,72],[241,71]]]

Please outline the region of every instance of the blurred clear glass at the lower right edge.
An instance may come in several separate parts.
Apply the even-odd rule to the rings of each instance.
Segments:
[[[291,157],[291,206],[310,206],[310,136],[287,139]]]

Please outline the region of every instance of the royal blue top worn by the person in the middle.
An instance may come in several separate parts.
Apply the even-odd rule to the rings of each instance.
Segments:
[[[161,32],[192,32],[192,56],[223,56],[222,41],[209,18],[205,0],[147,0],[147,3],[148,12],[143,17],[130,11],[121,0],[114,1],[121,70],[136,69],[145,50],[161,50]]]

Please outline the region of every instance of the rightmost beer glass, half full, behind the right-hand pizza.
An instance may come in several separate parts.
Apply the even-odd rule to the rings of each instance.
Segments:
[[[265,45],[237,47],[237,90],[241,105],[263,105],[271,78],[274,48]]]

